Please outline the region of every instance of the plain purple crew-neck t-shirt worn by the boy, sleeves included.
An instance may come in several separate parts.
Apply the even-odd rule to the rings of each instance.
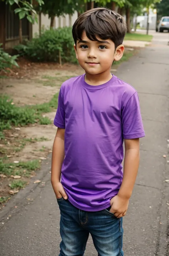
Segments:
[[[86,211],[110,206],[122,184],[123,140],[144,137],[137,91],[116,76],[92,86],[85,75],[65,81],[54,124],[65,129],[61,182]]]

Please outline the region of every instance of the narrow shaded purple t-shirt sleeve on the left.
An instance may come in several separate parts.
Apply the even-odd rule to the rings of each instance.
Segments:
[[[54,119],[54,125],[58,128],[65,129],[65,109],[63,105],[63,94],[62,94],[62,87],[59,92],[58,96],[58,107],[57,112]]]

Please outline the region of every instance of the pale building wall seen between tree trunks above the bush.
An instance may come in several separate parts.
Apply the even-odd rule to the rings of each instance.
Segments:
[[[66,14],[65,16],[55,17],[55,28],[58,27],[71,27],[75,20],[77,19],[77,12],[73,15]],[[50,28],[50,18],[48,15],[41,15],[41,28],[49,29]],[[39,34],[39,24],[35,23],[32,25],[32,36],[35,37],[36,34]]]

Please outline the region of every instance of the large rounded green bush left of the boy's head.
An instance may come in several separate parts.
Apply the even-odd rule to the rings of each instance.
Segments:
[[[73,48],[72,28],[64,27],[42,31],[40,37],[33,38],[27,45],[15,47],[33,61],[54,61],[77,63]]]

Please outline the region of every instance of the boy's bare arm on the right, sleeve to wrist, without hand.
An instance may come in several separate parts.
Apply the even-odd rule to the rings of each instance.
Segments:
[[[124,157],[123,181],[118,195],[123,198],[130,198],[134,188],[139,167],[139,147],[126,150]]]

